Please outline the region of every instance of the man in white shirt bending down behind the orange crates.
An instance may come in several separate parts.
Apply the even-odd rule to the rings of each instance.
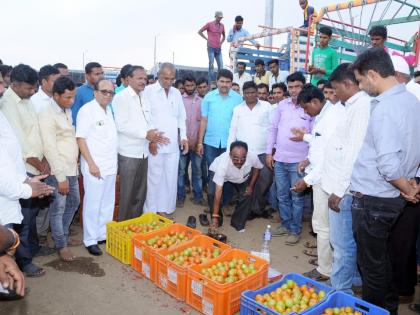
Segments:
[[[211,213],[210,230],[222,225],[220,209],[230,200],[227,190],[236,190],[239,202],[232,214],[231,225],[238,231],[245,231],[245,223],[251,209],[252,193],[263,164],[255,153],[248,152],[248,145],[243,141],[230,144],[229,152],[219,155],[210,165],[208,198]],[[223,196],[223,201],[222,201]]]

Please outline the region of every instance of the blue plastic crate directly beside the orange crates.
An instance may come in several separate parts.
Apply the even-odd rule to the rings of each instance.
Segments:
[[[266,315],[279,315],[280,313],[266,307],[265,305],[257,302],[255,300],[255,297],[258,294],[265,294],[265,293],[270,293],[274,290],[276,290],[277,288],[281,287],[284,283],[287,282],[287,280],[293,280],[294,282],[297,283],[297,285],[302,286],[302,285],[307,285],[308,287],[312,287],[315,288],[316,292],[319,292],[321,290],[324,290],[327,293],[327,296],[331,293],[332,288],[316,282],[312,279],[306,278],[300,274],[297,273],[287,273],[283,276],[283,278],[277,282],[274,282],[260,290],[255,290],[255,291],[245,291],[244,293],[242,293],[242,297],[241,297],[241,313],[240,315],[256,315],[256,314],[266,314]],[[325,302],[326,298],[319,302],[317,305],[320,305],[321,303]],[[310,308],[308,308],[307,310],[299,313],[299,314],[308,314],[309,310],[312,310],[314,307],[316,307],[317,305],[314,305]],[[315,314],[315,313],[314,313]]]

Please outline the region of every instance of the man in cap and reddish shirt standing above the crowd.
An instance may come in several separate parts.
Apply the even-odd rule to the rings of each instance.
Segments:
[[[214,59],[217,62],[217,70],[223,68],[222,58],[222,44],[225,41],[225,26],[221,23],[223,13],[216,11],[215,20],[206,23],[199,31],[198,35],[203,37],[207,41],[207,53],[209,55],[209,79],[210,81],[216,80],[216,74],[214,73]],[[207,31],[207,37],[203,34]]]

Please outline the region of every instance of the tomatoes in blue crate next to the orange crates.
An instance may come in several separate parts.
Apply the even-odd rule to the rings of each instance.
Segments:
[[[298,286],[295,281],[287,280],[270,293],[257,294],[255,300],[280,314],[288,314],[302,312],[320,302],[325,296],[326,292],[323,290],[317,292],[313,287]]]

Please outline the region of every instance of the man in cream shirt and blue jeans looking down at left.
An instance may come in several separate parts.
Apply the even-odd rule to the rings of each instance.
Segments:
[[[64,261],[71,261],[75,256],[68,248],[69,226],[80,203],[79,148],[70,109],[76,86],[70,78],[62,76],[54,82],[52,93],[49,104],[39,114],[44,154],[51,166],[48,182],[56,188],[49,208],[50,226],[58,255]]]

